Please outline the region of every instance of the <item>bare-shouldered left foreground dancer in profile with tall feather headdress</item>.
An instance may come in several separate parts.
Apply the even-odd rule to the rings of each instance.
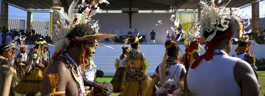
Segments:
[[[98,11],[101,11],[99,7],[97,11],[93,11],[98,4],[109,3],[106,0],[80,1],[82,6],[80,6],[79,12],[72,19],[72,13],[77,2],[79,1],[74,0],[70,7],[64,4],[64,7],[70,8],[67,9],[68,11],[64,10],[64,7],[61,7],[60,11],[55,10],[56,13],[60,14],[61,28],[57,28],[59,40],[55,43],[55,53],[50,60],[51,64],[46,69],[42,86],[43,89],[51,90],[42,90],[42,96],[65,94],[85,96],[108,91],[108,87],[104,85],[104,82],[95,83],[89,81],[82,74],[86,74],[85,63],[89,63],[89,56],[92,55],[95,48],[95,39],[115,36],[112,34],[96,34],[94,28],[98,30],[99,26],[97,21],[94,22],[90,18]],[[86,12],[86,20],[85,24],[81,25],[79,23],[84,12]],[[84,86],[98,88],[98,90],[86,93]]]

